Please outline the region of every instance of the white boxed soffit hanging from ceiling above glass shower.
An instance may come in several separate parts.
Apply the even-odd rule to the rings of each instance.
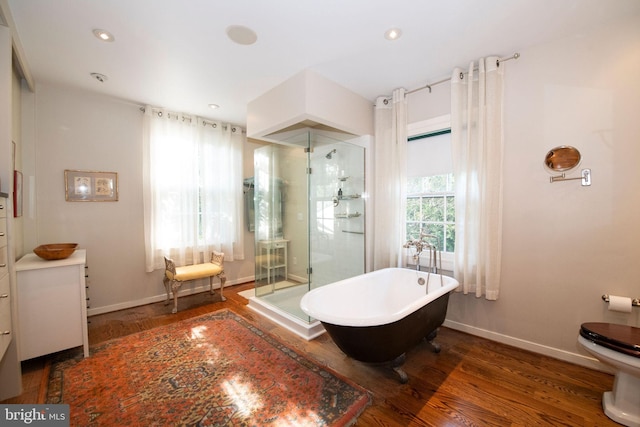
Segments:
[[[319,74],[305,70],[247,107],[247,136],[278,142],[297,129],[373,135],[373,103]]]

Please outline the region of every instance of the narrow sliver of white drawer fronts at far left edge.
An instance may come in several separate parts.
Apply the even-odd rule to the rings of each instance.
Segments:
[[[7,199],[0,198],[0,360],[11,344],[11,288],[7,251]]]

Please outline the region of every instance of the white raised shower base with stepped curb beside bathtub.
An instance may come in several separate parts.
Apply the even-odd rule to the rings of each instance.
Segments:
[[[325,332],[322,323],[318,320],[307,322],[275,305],[278,304],[282,307],[287,307],[292,313],[300,313],[302,317],[307,317],[307,315],[302,312],[302,309],[300,309],[300,300],[305,292],[306,287],[295,286],[280,289],[271,295],[265,295],[260,298],[255,296],[254,289],[248,289],[239,294],[249,300],[248,307],[251,310],[307,341],[311,341]]]

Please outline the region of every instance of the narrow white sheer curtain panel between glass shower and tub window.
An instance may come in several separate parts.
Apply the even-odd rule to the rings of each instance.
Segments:
[[[396,89],[375,108],[373,269],[400,267],[404,243],[407,174],[407,100]]]

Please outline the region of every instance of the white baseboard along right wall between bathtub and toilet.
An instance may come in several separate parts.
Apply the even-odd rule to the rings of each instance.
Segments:
[[[563,360],[565,362],[574,363],[576,365],[584,366],[585,368],[595,369],[597,371],[613,373],[613,371],[603,363],[600,363],[597,359],[584,356],[578,353],[571,353],[566,350],[560,350],[558,348],[549,347],[542,344],[537,344],[531,341],[526,341],[520,338],[511,337],[508,335],[499,334],[497,332],[488,331],[486,329],[477,328],[475,326],[467,325],[464,323],[453,322],[451,320],[445,320],[443,326],[447,328],[455,329],[456,331],[466,332],[470,335],[486,338],[491,341],[496,341],[502,344],[507,344],[513,347],[521,348],[523,350],[532,351],[534,353],[542,354],[544,356],[553,357],[554,359]],[[576,346],[578,346],[578,334],[576,332]]]

